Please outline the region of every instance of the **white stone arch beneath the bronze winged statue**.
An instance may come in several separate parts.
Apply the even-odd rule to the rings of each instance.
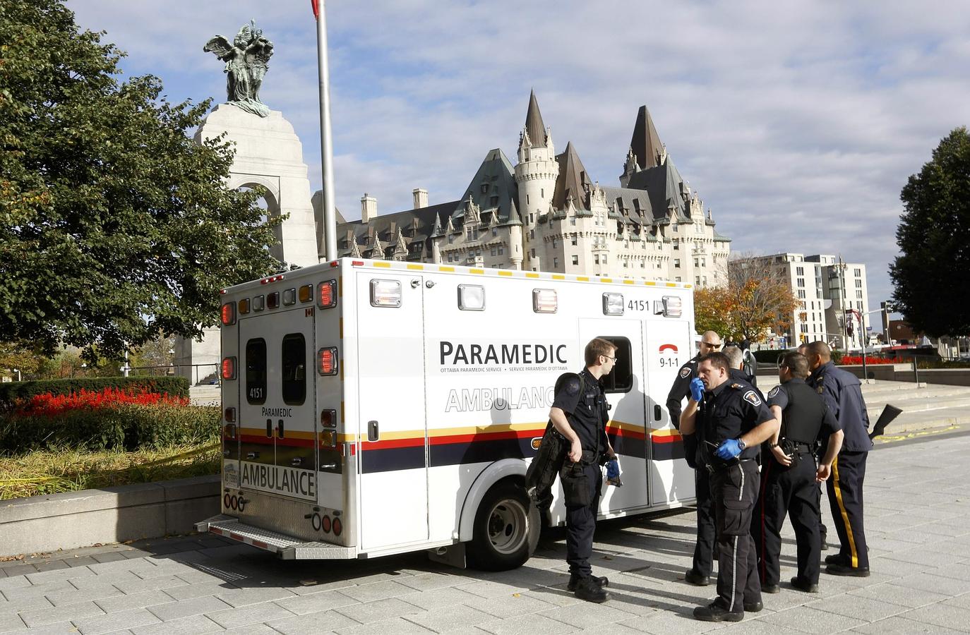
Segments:
[[[319,263],[320,238],[310,201],[307,164],[293,126],[279,111],[261,117],[231,104],[219,104],[206,116],[194,139],[203,143],[223,134],[236,150],[226,187],[261,185],[266,192],[267,215],[288,214],[275,227],[276,244],[271,253],[288,265]],[[206,329],[202,341],[178,338],[176,342],[178,374],[192,385],[210,381],[220,361],[218,329]]]

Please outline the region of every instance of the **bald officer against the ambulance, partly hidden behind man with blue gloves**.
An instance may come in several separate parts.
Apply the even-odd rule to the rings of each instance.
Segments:
[[[677,371],[677,377],[667,395],[667,410],[674,428],[680,429],[680,407],[685,397],[691,397],[691,380],[697,376],[697,361],[708,353],[721,349],[721,336],[707,331],[700,336],[700,352]],[[710,486],[707,470],[697,469],[697,446],[694,437],[684,437],[684,453],[687,464],[695,468],[695,492],[697,496],[697,541],[694,546],[694,563],[684,574],[684,580],[706,587],[711,584],[714,568],[714,508],[711,507]]]

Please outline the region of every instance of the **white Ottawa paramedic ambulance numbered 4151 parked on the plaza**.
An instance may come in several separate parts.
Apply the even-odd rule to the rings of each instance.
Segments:
[[[524,490],[556,379],[593,337],[622,488],[600,518],[693,501],[664,401],[694,355],[691,285],[341,258],[222,296],[222,514],[283,558],[429,550],[519,566],[545,518]],[[557,490],[559,486],[557,485]]]

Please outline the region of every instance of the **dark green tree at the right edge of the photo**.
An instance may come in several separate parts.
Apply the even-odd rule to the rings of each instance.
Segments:
[[[914,331],[970,333],[970,135],[956,128],[899,196],[892,298]]]

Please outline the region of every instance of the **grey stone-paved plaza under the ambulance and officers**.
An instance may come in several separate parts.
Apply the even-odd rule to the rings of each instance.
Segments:
[[[695,621],[714,587],[684,582],[693,513],[602,523],[594,573],[605,604],[565,590],[562,529],[515,571],[461,571],[423,554],[352,562],[281,561],[207,535],[0,562],[0,633],[703,633],[970,632],[970,434],[925,433],[869,458],[872,576],[822,574],[821,592],[783,588],[744,621]],[[630,478],[630,475],[625,475]],[[827,510],[826,510],[827,512]],[[824,553],[832,553],[824,552]]]

